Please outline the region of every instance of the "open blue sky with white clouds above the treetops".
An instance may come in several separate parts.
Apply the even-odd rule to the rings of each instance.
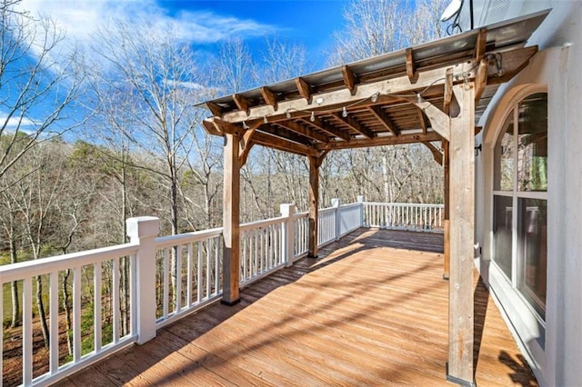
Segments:
[[[24,0],[21,7],[53,17],[69,37],[89,39],[100,23],[115,16],[172,23],[200,50],[212,53],[228,38],[242,38],[252,55],[266,37],[306,46],[313,67],[326,64],[334,31],[341,28],[348,0],[164,1]]]

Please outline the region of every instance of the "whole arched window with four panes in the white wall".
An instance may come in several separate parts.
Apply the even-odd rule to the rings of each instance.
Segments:
[[[512,106],[494,152],[493,262],[545,319],[547,93]]]

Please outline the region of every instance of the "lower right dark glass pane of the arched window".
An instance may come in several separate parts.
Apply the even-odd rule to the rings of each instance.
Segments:
[[[547,201],[519,199],[519,278],[517,288],[546,318]]]

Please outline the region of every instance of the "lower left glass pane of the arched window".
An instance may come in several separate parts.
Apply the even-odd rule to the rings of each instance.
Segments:
[[[493,205],[493,261],[511,279],[513,199],[496,195]]]

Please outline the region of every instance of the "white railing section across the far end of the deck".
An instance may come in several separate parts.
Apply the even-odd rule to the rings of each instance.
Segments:
[[[444,204],[364,203],[364,227],[394,230],[443,230]]]

